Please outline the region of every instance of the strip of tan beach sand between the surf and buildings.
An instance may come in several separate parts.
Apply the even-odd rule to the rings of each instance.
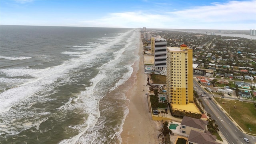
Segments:
[[[132,88],[126,93],[129,100],[127,104],[129,114],[126,116],[121,133],[122,144],[159,144],[158,135],[161,125],[158,121],[152,120],[149,113],[146,96],[149,86],[147,86],[147,75],[144,73],[142,42],[140,45],[138,50],[140,60],[133,66],[133,76],[136,75],[136,79]]]

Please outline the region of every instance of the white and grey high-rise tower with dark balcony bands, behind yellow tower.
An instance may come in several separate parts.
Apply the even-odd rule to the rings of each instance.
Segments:
[[[166,69],[166,46],[167,42],[164,38],[155,38],[155,68],[156,70]]]

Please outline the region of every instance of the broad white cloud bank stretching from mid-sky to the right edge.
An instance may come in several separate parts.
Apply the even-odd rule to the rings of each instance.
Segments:
[[[96,20],[84,20],[80,24],[102,27],[137,28],[214,28],[221,24],[237,28],[250,27],[256,24],[256,1],[215,2],[209,6],[194,6],[184,10],[167,11],[164,13],[149,12],[116,12],[109,13]],[[249,23],[249,24],[248,24]],[[218,26],[217,26],[218,25]],[[223,27],[227,27],[224,26]],[[241,29],[241,28],[240,28]]]

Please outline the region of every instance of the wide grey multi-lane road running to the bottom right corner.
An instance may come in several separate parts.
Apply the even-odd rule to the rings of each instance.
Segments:
[[[194,80],[194,90],[198,94],[203,94],[204,90],[200,85]],[[228,144],[254,144],[256,142],[255,136],[250,136],[243,133],[230,118],[217,106],[214,100],[210,100],[208,97],[212,97],[212,94],[204,94],[204,97],[199,96],[202,100],[205,110],[208,114],[212,116],[212,119],[216,120],[220,132],[225,137]],[[249,142],[245,142],[243,138],[248,138]]]

